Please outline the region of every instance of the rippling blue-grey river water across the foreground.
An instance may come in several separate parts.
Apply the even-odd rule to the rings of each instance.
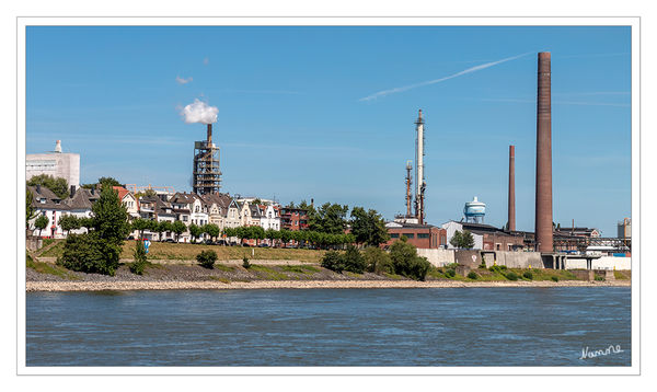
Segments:
[[[630,320],[627,287],[28,292],[26,365],[631,366]]]

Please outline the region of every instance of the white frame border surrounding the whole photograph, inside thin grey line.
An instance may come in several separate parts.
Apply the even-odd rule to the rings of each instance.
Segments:
[[[25,198],[25,27],[28,25],[313,25],[313,26],[593,26],[632,27],[632,366],[631,367],[26,367],[25,366],[25,268],[18,268],[18,374],[638,374],[639,373],[639,19],[638,18],[22,18],[18,34],[18,266],[24,265],[23,233]]]

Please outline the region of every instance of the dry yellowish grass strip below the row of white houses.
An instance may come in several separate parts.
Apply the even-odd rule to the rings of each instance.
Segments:
[[[64,240],[56,240],[57,244],[47,250],[42,257],[59,257],[64,252]],[[120,258],[132,258],[135,250],[134,241],[125,241]],[[270,247],[243,247],[243,246],[219,246],[186,243],[151,242],[149,247],[149,260],[196,260],[196,255],[203,251],[212,250],[217,252],[219,261],[242,260],[293,260],[306,263],[320,263],[324,251],[304,249],[270,249]]]

